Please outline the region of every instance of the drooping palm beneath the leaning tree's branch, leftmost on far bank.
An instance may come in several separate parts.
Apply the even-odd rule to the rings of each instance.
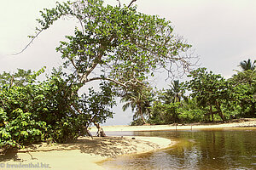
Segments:
[[[123,111],[126,111],[131,107],[131,111],[135,112],[134,117],[142,118],[143,124],[146,124],[144,116],[149,116],[149,107],[151,103],[151,93],[147,89],[137,89],[126,92],[120,101],[125,102],[125,105],[123,105]]]

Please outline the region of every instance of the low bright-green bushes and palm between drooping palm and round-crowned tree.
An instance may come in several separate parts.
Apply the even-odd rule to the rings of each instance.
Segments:
[[[201,122],[201,110],[185,96],[186,87],[178,80],[169,89],[158,92],[158,99],[151,108],[149,122],[170,124],[173,122]],[[194,101],[194,100],[193,100]]]

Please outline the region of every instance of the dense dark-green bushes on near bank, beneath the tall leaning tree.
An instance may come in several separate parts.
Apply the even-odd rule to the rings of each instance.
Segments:
[[[102,123],[113,116],[109,109],[115,104],[110,84],[102,82],[101,92],[90,89],[89,95],[79,97],[80,85],[63,78],[61,70],[54,69],[44,82],[35,82],[41,72],[44,70],[26,75],[34,77],[23,82],[26,86],[2,84],[0,145],[4,149],[40,141],[65,143],[88,134],[91,122]]]

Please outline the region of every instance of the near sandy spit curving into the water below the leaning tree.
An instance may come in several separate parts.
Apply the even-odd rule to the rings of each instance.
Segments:
[[[15,156],[6,156],[1,160],[1,166],[3,170],[27,169],[29,165],[37,166],[37,169],[102,170],[104,168],[98,163],[109,158],[161,150],[173,144],[176,142],[159,137],[83,137],[70,144],[33,144],[18,150]]]

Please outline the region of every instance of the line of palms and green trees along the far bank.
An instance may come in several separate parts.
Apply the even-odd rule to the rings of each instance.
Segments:
[[[190,81],[175,80],[170,88],[153,92],[141,88],[125,94],[123,109],[135,112],[131,125],[174,122],[228,121],[256,117],[255,61],[241,61],[241,71],[229,79],[206,68],[191,71]]]

